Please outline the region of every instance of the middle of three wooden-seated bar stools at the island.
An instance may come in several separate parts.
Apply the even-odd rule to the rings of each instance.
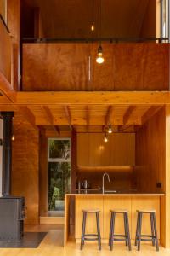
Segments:
[[[115,235],[114,233],[116,214],[123,214],[125,235]],[[119,237],[119,238],[116,238],[116,237]],[[129,251],[132,250],[127,210],[111,210],[111,227],[110,227],[110,236],[109,236],[109,246],[111,247],[111,251],[113,249],[113,241],[126,241],[126,246],[128,246]]]

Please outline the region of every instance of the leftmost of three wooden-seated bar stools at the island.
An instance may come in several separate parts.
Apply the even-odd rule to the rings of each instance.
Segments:
[[[81,247],[82,250],[84,246],[84,241],[98,241],[99,251],[101,250],[101,236],[99,229],[99,210],[82,210],[83,219],[82,219],[82,238],[81,238]],[[94,213],[96,215],[96,224],[97,224],[97,234],[85,234],[86,230],[86,218],[88,213]]]

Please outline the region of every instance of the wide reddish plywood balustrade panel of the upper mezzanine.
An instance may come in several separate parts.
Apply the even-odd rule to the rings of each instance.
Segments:
[[[168,44],[102,45],[99,65],[97,43],[24,44],[23,90],[168,90]]]

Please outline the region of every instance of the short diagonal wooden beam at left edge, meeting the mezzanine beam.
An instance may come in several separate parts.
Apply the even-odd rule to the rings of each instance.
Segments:
[[[16,91],[8,80],[4,77],[3,73],[0,72],[0,91],[6,96],[9,102],[16,102]]]

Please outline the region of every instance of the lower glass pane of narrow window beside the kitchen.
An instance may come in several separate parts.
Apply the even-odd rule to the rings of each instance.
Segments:
[[[71,189],[71,163],[48,162],[48,210],[64,211],[65,192]]]

